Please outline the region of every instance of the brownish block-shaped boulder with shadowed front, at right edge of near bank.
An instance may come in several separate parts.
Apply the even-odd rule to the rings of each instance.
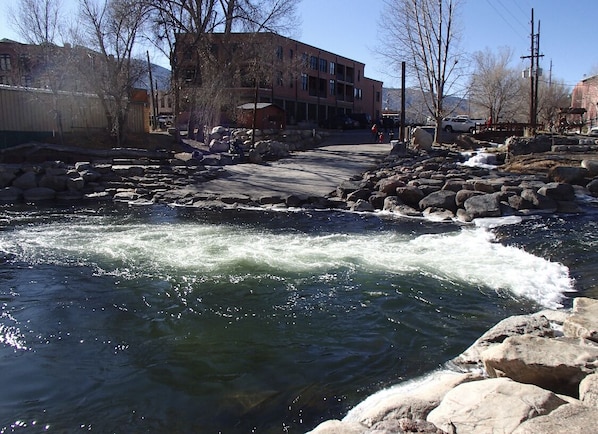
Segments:
[[[511,336],[481,358],[490,377],[509,377],[575,397],[580,381],[598,368],[598,347],[570,338]]]

